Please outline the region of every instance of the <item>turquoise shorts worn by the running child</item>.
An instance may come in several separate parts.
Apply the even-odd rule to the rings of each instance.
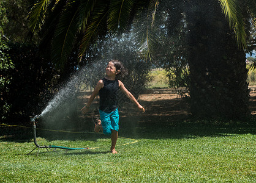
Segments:
[[[119,130],[119,112],[118,109],[113,112],[104,112],[99,110],[100,112],[100,120],[103,128],[103,133],[105,135],[111,135],[111,130],[118,131]]]

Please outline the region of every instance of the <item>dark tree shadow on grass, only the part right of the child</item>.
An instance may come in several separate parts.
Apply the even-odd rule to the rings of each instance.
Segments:
[[[126,126],[126,127],[124,127]],[[138,124],[130,128],[130,124],[123,126],[119,135],[130,138],[195,138],[195,137],[222,137],[232,134],[256,134],[254,124]],[[129,134],[129,135],[127,135]]]

